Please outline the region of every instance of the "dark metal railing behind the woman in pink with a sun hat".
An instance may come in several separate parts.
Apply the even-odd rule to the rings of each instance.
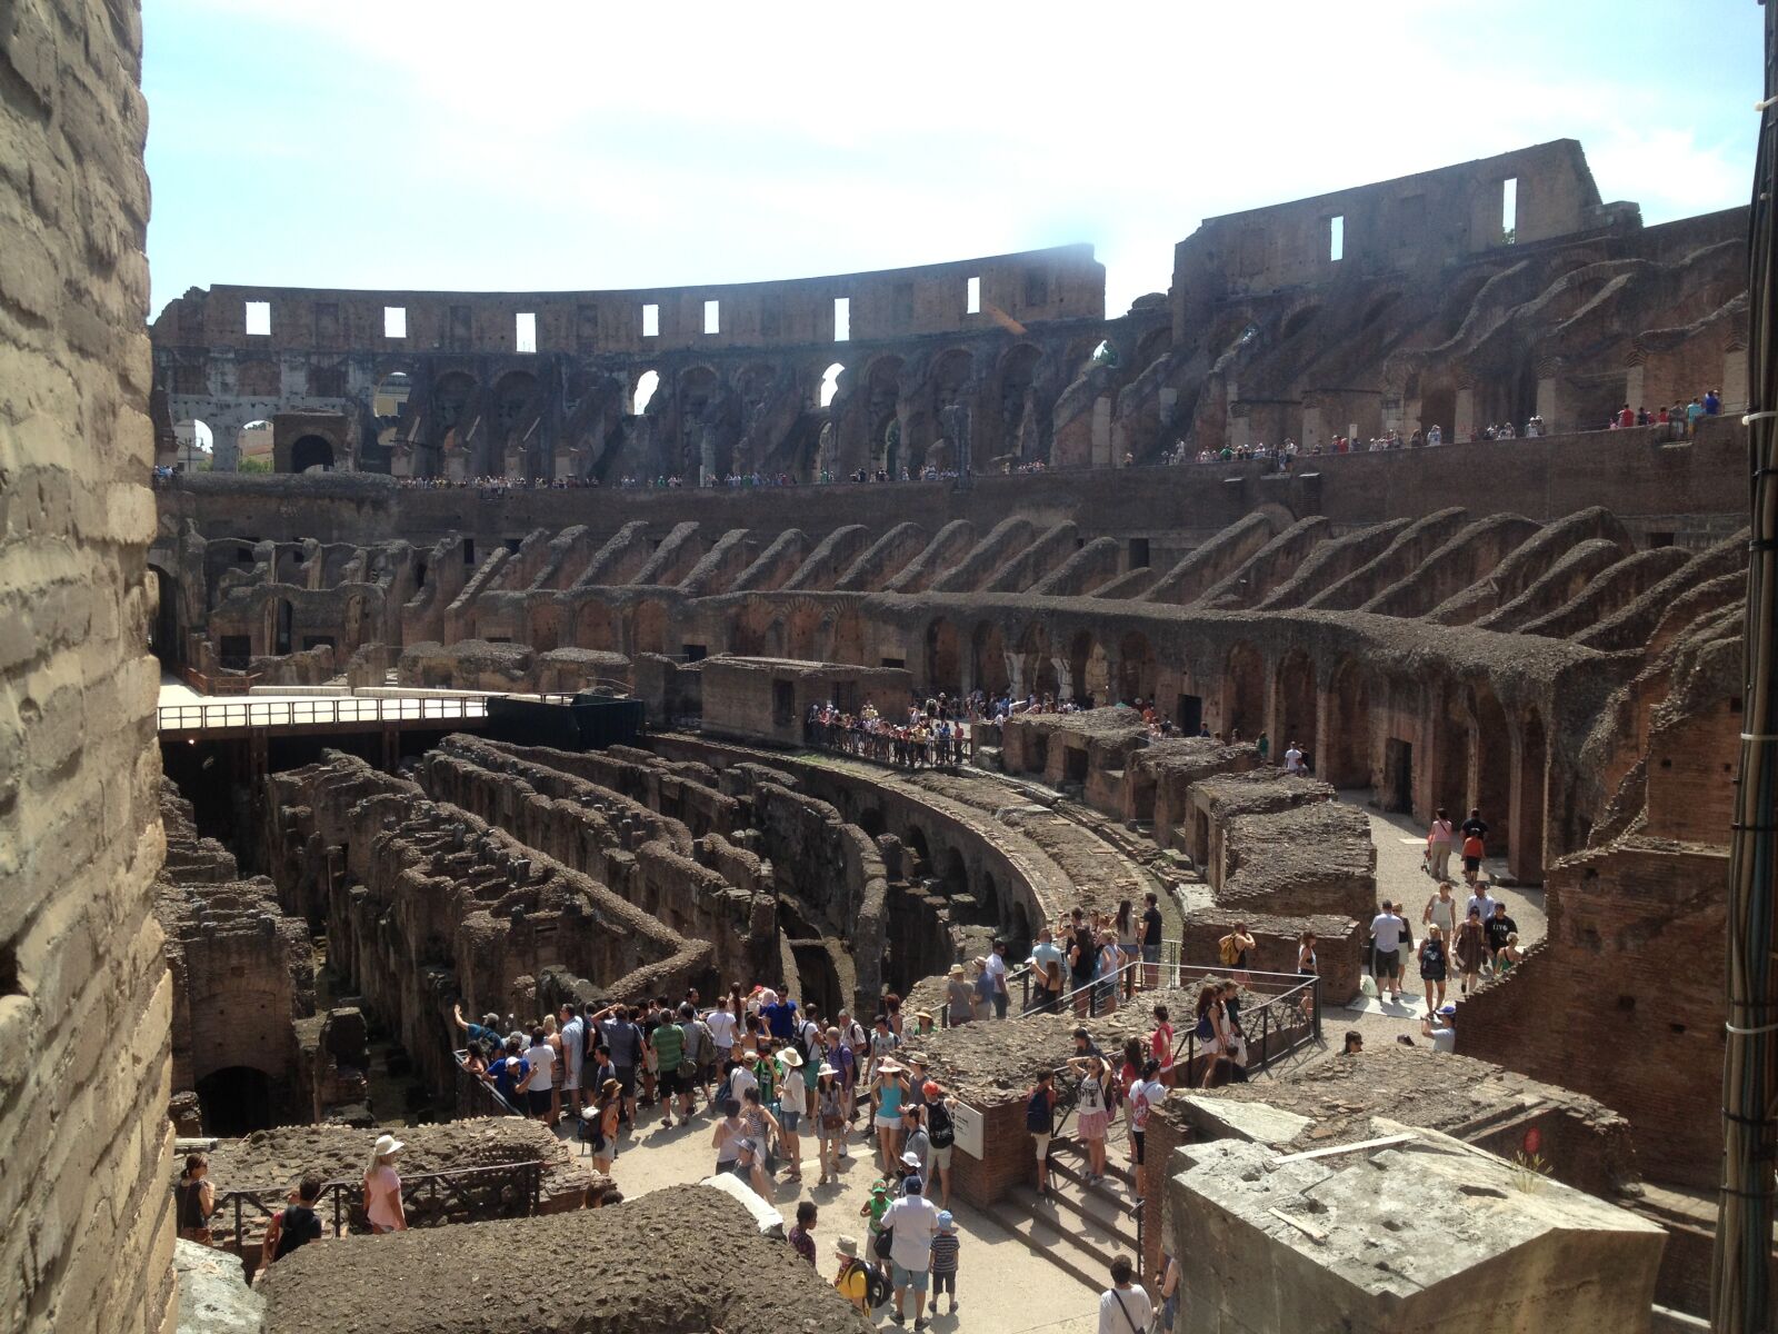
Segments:
[[[541,1161],[494,1163],[493,1167],[462,1167],[448,1172],[421,1172],[402,1177],[402,1211],[409,1227],[443,1227],[452,1213],[462,1222],[487,1218],[525,1218],[537,1213],[542,1202],[544,1167]],[[247,1247],[265,1240],[272,1215],[284,1208],[288,1186],[238,1186],[219,1190],[215,1211],[210,1215],[212,1245],[245,1256]],[[315,1199],[322,1217],[332,1211],[332,1236],[368,1233],[363,1181],[327,1181]],[[226,1218],[222,1229],[217,1218]],[[219,1234],[220,1233],[220,1234]],[[258,1263],[258,1258],[252,1258]]]

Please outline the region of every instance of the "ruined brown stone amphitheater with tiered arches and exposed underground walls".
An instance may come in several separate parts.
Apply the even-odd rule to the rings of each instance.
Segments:
[[[471,1330],[516,1282],[523,1330],[873,1325],[832,1282],[869,1121],[832,1185],[813,1122],[772,1190],[706,1185],[704,1099],[601,1170],[464,1030],[731,985],[894,998],[955,1099],[926,1186],[981,1297],[933,1329],[1035,1329],[990,1323],[1026,1293],[1088,1329],[1120,1254],[1156,1295],[1181,1263],[1181,1330],[1705,1327],[1746,210],[1645,226],[1558,141],[1207,219],[1122,315],[1074,245],[219,285],[139,334],[139,16],[41,9],[0,30],[0,1329],[404,1290],[380,1329]],[[1453,966],[1454,1042],[1373,976],[1440,809],[1517,927]],[[1147,896],[1157,948],[1045,1005],[1042,937]],[[1005,1019],[949,985],[996,953]],[[1076,1032],[1149,1044],[1157,1001],[1177,1078],[1093,1170]],[[425,1240],[370,1234],[380,1131]],[[325,1236],[270,1265],[306,1174]]]

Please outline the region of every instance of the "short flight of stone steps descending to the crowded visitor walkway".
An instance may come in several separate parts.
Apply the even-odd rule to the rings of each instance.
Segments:
[[[1136,1259],[1134,1179],[1122,1144],[1106,1151],[1106,1179],[1086,1181],[1086,1149],[1074,1138],[1056,1138],[1049,1149],[1049,1193],[1015,1186],[989,1209],[989,1217],[1035,1254],[1093,1291],[1102,1291],[1118,1256]]]

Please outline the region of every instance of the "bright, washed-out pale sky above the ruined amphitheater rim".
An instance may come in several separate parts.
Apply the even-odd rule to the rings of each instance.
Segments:
[[[573,290],[1092,242],[1575,137],[1648,222],[1742,205],[1755,0],[148,0],[153,309]]]

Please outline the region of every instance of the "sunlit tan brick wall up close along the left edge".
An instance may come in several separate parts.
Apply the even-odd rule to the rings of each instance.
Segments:
[[[0,1327],[171,1323],[137,5],[0,20]]]

